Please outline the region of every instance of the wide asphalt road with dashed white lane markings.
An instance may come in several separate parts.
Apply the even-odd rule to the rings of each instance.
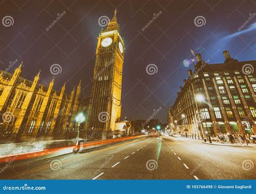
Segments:
[[[9,164],[1,179],[255,179],[256,148],[147,137],[83,154]],[[245,162],[244,162],[245,161]],[[242,167],[242,163],[244,167]]]

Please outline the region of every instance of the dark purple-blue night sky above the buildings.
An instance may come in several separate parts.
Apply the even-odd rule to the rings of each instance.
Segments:
[[[125,41],[122,118],[127,115],[147,119],[154,109],[162,107],[155,118],[166,122],[168,107],[187,78],[187,70],[193,69],[190,49],[201,53],[210,64],[223,63],[224,50],[239,61],[256,60],[256,16],[238,31],[255,7],[256,0],[0,0],[0,69],[17,59],[24,63],[26,79],[32,80],[42,70],[40,84],[48,85],[55,76],[54,88],[60,89],[66,81],[66,92],[82,79],[83,92],[89,96],[97,37],[102,29],[98,19],[111,19],[116,8]],[[46,31],[57,14],[64,11],[64,16]],[[157,13],[158,17],[143,31]],[[2,24],[5,16],[14,18],[13,25]],[[197,16],[205,18],[205,25],[194,24]],[[62,72],[52,75],[52,64],[59,64]],[[147,74],[149,64],[157,66],[156,74]]]

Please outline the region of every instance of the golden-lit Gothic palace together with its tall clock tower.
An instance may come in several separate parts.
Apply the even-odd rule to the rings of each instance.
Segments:
[[[124,40],[116,14],[98,37],[89,98],[80,95],[81,81],[66,94],[65,84],[53,89],[54,78],[48,87],[39,85],[40,72],[33,81],[22,78],[23,64],[13,74],[0,70],[0,143],[75,138],[80,112],[86,117],[80,137],[110,137],[120,123],[129,128],[129,121],[120,122]]]

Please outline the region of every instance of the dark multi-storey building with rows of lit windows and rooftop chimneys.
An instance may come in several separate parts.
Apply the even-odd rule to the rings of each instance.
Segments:
[[[221,64],[208,64],[196,54],[195,71],[188,70],[169,111],[178,133],[198,138],[227,131],[256,132],[256,61],[238,61],[228,51],[223,54]]]

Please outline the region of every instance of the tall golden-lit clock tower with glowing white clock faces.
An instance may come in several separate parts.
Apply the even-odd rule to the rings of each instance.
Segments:
[[[119,34],[117,11],[100,32],[93,81],[87,106],[86,133],[92,137],[111,136],[121,115],[124,41]]]

